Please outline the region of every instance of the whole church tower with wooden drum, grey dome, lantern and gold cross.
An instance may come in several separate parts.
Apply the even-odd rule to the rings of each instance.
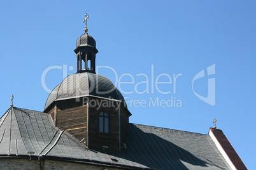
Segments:
[[[129,136],[131,113],[113,82],[96,74],[96,41],[87,31],[85,25],[85,34],[76,41],[77,72],[53,89],[44,112],[87,147],[120,151]]]

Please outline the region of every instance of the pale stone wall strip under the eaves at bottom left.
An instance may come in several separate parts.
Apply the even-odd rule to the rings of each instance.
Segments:
[[[62,170],[81,170],[81,169],[108,169],[116,170],[117,168],[110,168],[104,166],[94,166],[89,164],[82,163],[73,163],[73,162],[62,162],[58,160],[42,160],[41,161],[42,170],[51,170],[51,169],[62,169]],[[40,169],[38,160],[27,160],[27,159],[0,159],[0,169]]]

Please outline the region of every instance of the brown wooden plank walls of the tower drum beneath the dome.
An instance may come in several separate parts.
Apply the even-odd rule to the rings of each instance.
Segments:
[[[99,106],[102,100],[108,99],[89,97],[89,101],[92,100],[96,101],[96,105],[92,106],[89,103],[83,105],[82,99],[80,101],[75,99],[56,101],[57,109],[52,105],[52,108],[48,108],[48,113],[52,116],[53,122],[56,119],[56,126],[59,129],[68,131],[78,140],[85,138],[84,141],[87,141],[89,148],[103,150],[103,146],[105,146],[108,148],[104,148],[104,150],[119,151],[119,147],[123,147],[123,143],[129,136],[129,111],[121,106],[120,122],[118,122],[119,109],[117,105]],[[101,112],[106,112],[109,116],[109,133],[99,133],[99,114]],[[87,122],[89,126],[87,126]],[[120,146],[118,141],[119,124]]]

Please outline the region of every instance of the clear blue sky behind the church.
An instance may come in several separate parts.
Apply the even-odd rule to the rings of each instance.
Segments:
[[[70,66],[76,71],[76,39],[83,34],[83,18],[89,34],[96,39],[97,66],[113,68],[120,78],[134,77],[133,84],[121,84],[131,100],[145,100],[146,107],[129,107],[130,122],[208,134],[216,118],[248,169],[255,167],[255,1],[0,1],[1,26],[1,108],[43,111],[48,93],[41,86],[43,71],[52,66]],[[215,74],[206,68],[215,64]],[[153,65],[153,76],[152,72]],[[192,90],[206,97],[208,79],[215,79],[215,105],[197,98]],[[99,74],[114,83],[110,69]],[[153,92],[138,94],[137,83],[148,75]],[[181,74],[174,84],[159,84],[160,74]],[[63,79],[63,70],[46,74],[46,85],[53,89]],[[153,87],[152,80],[153,79]],[[131,82],[123,76],[121,81]],[[159,81],[168,81],[161,76]],[[146,84],[137,86],[139,91]],[[150,99],[180,100],[181,107],[149,106]]]

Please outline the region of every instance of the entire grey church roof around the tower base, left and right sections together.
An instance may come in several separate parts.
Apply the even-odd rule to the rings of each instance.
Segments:
[[[10,108],[0,119],[0,157],[57,159],[132,169],[231,169],[209,135],[130,124],[127,149],[90,150],[50,114]],[[112,159],[112,160],[111,160]],[[115,161],[118,160],[118,161]]]

